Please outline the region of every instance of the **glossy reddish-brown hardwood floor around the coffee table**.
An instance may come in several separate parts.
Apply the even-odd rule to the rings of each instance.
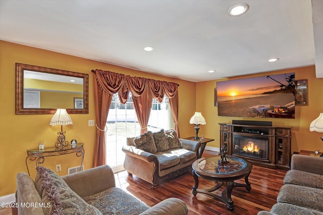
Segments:
[[[203,157],[214,154],[211,151],[204,151]],[[147,205],[152,206],[158,202],[169,198],[177,197],[185,201],[190,215],[193,214],[257,214],[260,210],[270,210],[275,204],[278,192],[283,185],[286,174],[284,170],[267,169],[253,165],[249,176],[251,191],[243,187],[236,187],[232,191],[234,211],[230,212],[225,203],[215,198],[197,193],[196,197],[192,194],[194,179],[191,173],[187,173],[171,181],[161,183],[158,188],[153,189],[151,185],[136,176],[128,176],[126,172],[116,174],[116,184],[128,193],[136,196]],[[244,183],[244,179],[236,182]],[[199,188],[208,188],[214,182],[199,180]],[[220,194],[224,188],[217,190]]]

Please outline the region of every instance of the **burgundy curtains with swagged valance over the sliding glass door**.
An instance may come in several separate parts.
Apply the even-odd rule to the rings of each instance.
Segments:
[[[138,121],[141,127],[140,133],[147,132],[147,125],[151,110],[152,99],[163,101],[164,94],[169,98],[171,113],[175,122],[175,130],[178,136],[178,84],[156,81],[152,79],[125,76],[103,71],[92,70],[94,73],[94,102],[95,118],[97,122],[96,147],[94,155],[94,166],[105,164],[105,123],[109,113],[113,94],[119,92],[121,103],[125,104],[129,91],[133,96],[133,103]]]

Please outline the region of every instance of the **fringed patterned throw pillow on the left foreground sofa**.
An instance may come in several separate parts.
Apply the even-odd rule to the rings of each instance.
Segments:
[[[37,180],[41,181],[42,202],[45,214],[102,214],[98,209],[87,204],[55,172],[45,167],[36,168]]]

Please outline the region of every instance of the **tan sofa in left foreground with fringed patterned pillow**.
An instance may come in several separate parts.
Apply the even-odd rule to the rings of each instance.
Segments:
[[[17,174],[18,214],[187,214],[184,201],[168,198],[149,207],[116,187],[112,169],[103,165],[60,177],[37,167],[35,181]]]

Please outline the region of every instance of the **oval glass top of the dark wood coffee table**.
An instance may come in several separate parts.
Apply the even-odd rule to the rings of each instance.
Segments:
[[[212,174],[232,174],[246,168],[247,163],[236,157],[226,157],[229,163],[220,164],[221,156],[205,158],[197,163],[199,170]]]

